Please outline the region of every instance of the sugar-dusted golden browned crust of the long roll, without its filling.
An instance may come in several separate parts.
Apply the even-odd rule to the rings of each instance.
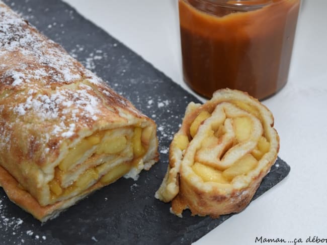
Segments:
[[[131,177],[158,159],[155,122],[0,1],[0,166],[41,206],[53,202],[48,184],[69,149],[98,132],[135,127],[154,134]],[[24,204],[20,190],[6,192],[26,210],[35,204]],[[60,203],[33,212],[68,205]]]

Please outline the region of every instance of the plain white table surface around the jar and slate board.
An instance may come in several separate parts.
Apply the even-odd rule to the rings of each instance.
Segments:
[[[192,92],[182,77],[177,0],[65,1]],[[327,238],[326,9],[326,0],[304,0],[289,81],[263,101],[274,114],[289,176],[195,244]]]

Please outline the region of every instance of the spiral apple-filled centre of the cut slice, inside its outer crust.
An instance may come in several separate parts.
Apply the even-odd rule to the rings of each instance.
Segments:
[[[247,175],[270,150],[259,112],[240,102],[200,112],[191,122],[188,136],[178,135],[174,140],[184,151],[193,139],[200,144],[192,170],[204,182],[226,184]]]

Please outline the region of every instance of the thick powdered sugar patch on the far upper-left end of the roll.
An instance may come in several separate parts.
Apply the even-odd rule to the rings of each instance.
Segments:
[[[8,69],[9,63],[15,63],[16,66],[11,71],[12,79],[9,79],[10,77],[5,79],[8,84],[24,86],[31,79],[71,83],[83,77],[82,70],[76,66],[77,62],[62,48],[58,48],[54,42],[39,35],[27,22],[12,11],[8,11],[4,4],[0,3],[0,5],[2,23],[0,60],[4,64],[3,68]],[[10,55],[12,52],[16,53],[14,58]],[[31,58],[33,63],[31,63]],[[45,67],[50,69],[44,69]]]

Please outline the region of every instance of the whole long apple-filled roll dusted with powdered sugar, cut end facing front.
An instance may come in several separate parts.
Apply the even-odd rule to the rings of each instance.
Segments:
[[[0,2],[0,185],[46,221],[158,160],[156,125]]]

